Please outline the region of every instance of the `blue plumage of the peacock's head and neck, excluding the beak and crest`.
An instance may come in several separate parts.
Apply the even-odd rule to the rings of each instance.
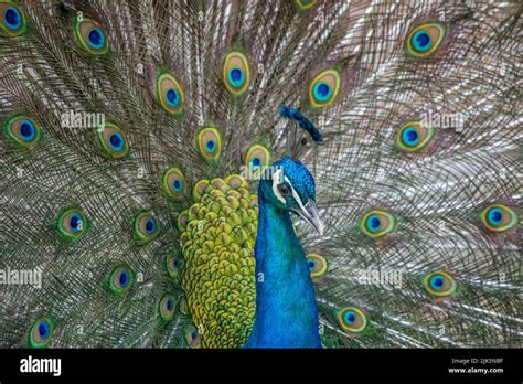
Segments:
[[[282,173],[260,181],[258,188],[256,317],[246,346],[320,348],[314,288],[289,213],[313,203],[314,181],[299,161],[285,158],[273,167]],[[297,193],[285,195],[285,204],[274,192],[284,183]]]

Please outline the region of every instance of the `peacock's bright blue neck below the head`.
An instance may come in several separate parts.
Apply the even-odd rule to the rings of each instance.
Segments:
[[[318,306],[289,213],[259,190],[256,317],[246,348],[321,348]]]

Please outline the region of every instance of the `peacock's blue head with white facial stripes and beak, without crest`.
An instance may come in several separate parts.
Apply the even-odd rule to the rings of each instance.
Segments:
[[[323,234],[316,205],[314,179],[300,161],[286,157],[270,166],[259,182],[259,195],[277,210],[296,213]]]

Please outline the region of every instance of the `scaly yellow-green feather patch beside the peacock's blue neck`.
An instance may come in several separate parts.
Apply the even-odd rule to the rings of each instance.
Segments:
[[[203,328],[201,345],[239,348],[255,312],[257,214],[247,189],[231,188],[222,179],[205,185],[180,236],[181,285],[193,323]]]

